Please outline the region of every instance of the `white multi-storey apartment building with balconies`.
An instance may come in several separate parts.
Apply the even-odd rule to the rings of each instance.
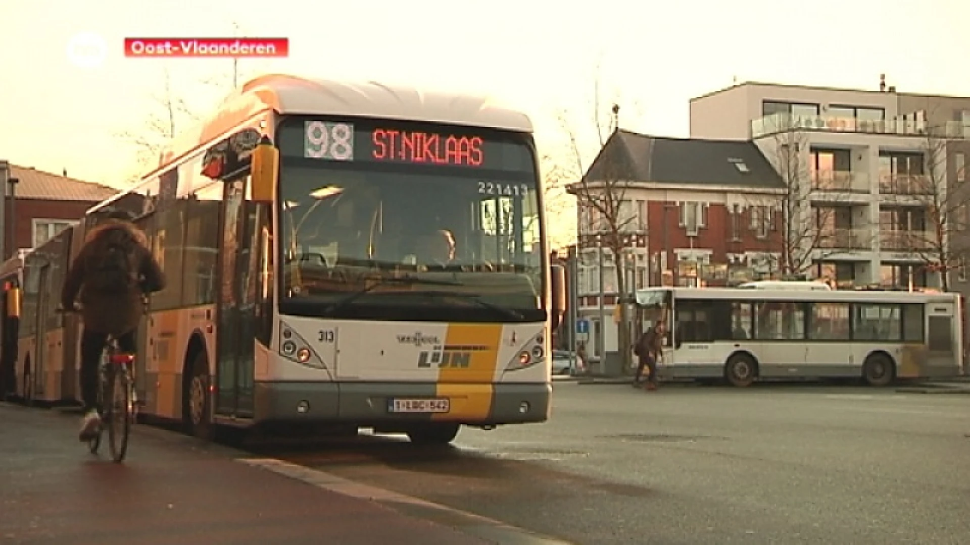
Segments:
[[[734,85],[691,100],[691,137],[754,141],[783,177],[804,180],[798,213],[821,234],[803,242],[810,276],[938,286],[945,272],[928,266],[940,240],[929,193],[938,192],[928,188],[953,192],[967,178],[970,98],[881,89]],[[966,209],[951,214],[947,244],[970,225]]]

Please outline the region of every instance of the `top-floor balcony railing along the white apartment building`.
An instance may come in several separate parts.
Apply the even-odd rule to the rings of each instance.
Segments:
[[[772,113],[751,121],[751,138],[759,138],[785,131],[829,131],[839,133],[861,133],[874,135],[925,135],[925,127],[903,120],[886,119],[882,121],[840,117],[836,115],[793,115],[792,113]],[[934,127],[934,135],[949,138],[970,138],[970,132],[962,123],[948,121]]]

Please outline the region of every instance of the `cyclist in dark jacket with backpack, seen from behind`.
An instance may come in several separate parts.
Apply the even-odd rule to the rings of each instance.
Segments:
[[[61,292],[65,309],[77,308],[75,301],[79,295],[81,299],[81,441],[96,436],[101,426],[98,364],[108,336],[117,339],[121,350],[134,354],[145,295],[165,288],[165,276],[145,233],[132,223],[134,214],[109,208],[103,217],[85,237]]]

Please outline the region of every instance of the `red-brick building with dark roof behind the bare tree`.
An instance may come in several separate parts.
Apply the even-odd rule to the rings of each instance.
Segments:
[[[591,321],[589,354],[609,359],[618,348],[620,260],[605,240],[611,232],[622,235],[628,293],[769,275],[769,256],[780,241],[776,210],[783,187],[751,142],[614,132],[583,179],[568,188],[578,201],[571,253],[578,262],[578,314]],[[605,211],[612,205],[616,213]]]

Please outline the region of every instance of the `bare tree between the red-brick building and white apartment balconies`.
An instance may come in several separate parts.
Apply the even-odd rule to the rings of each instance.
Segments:
[[[806,275],[820,260],[868,247],[867,230],[838,228],[836,222],[839,204],[855,188],[855,175],[813,169],[808,139],[800,131],[779,132],[768,144],[766,155],[782,178],[782,190],[777,196],[750,199],[749,213],[752,230],[765,240],[771,272]]]

